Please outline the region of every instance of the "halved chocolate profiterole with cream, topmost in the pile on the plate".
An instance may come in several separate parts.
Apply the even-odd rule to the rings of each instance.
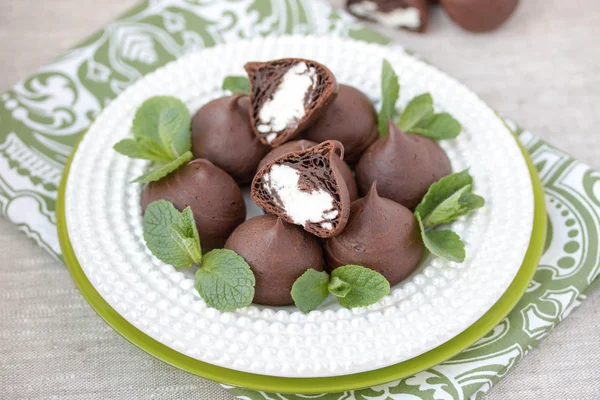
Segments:
[[[250,122],[272,147],[308,128],[337,95],[333,73],[316,61],[284,58],[244,68],[250,78]]]

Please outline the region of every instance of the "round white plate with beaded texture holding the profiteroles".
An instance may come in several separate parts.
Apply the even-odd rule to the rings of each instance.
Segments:
[[[467,259],[425,260],[378,304],[347,310],[328,299],[308,315],[294,307],[208,308],[193,275],[155,259],[142,238],[141,186],[147,166],[112,146],[130,135],[148,97],[174,95],[195,112],[224,93],[226,75],[250,60],[304,57],[327,65],[341,83],[377,101],[383,58],[401,81],[399,106],[430,92],[438,110],[463,125],[444,141],[455,171],[470,167],[485,208],[456,221]],[[249,216],[257,215],[256,207]],[[287,377],[363,372],[410,359],[448,341],[481,317],[517,273],[533,223],[533,194],[521,152],[508,129],[473,93],[396,47],[334,37],[281,37],[217,46],[149,74],[98,117],[74,157],[66,216],[75,254],[90,282],[125,319],[190,357],[240,371]]]

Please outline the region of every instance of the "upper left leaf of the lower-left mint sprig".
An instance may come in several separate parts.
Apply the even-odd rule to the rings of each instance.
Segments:
[[[191,213],[191,210],[188,213]],[[150,203],[142,224],[148,249],[164,263],[176,268],[190,267],[194,259],[199,258],[200,242],[191,243],[185,240],[196,239],[193,233],[190,234],[188,224],[182,213],[170,202],[157,200]],[[174,229],[173,226],[178,228]]]

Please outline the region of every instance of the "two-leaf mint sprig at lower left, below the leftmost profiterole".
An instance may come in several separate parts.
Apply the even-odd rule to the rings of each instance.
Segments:
[[[202,255],[191,208],[179,212],[166,200],[154,201],[146,208],[143,228],[146,245],[156,258],[176,268],[200,267],[194,286],[206,304],[233,311],[252,303],[256,280],[250,266],[232,250]]]

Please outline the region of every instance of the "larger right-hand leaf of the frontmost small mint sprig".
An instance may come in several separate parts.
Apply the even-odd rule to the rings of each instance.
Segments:
[[[344,297],[338,297],[346,308],[364,307],[377,303],[390,292],[390,283],[383,275],[360,265],[344,265],[331,272],[332,280],[338,278],[350,285]]]

